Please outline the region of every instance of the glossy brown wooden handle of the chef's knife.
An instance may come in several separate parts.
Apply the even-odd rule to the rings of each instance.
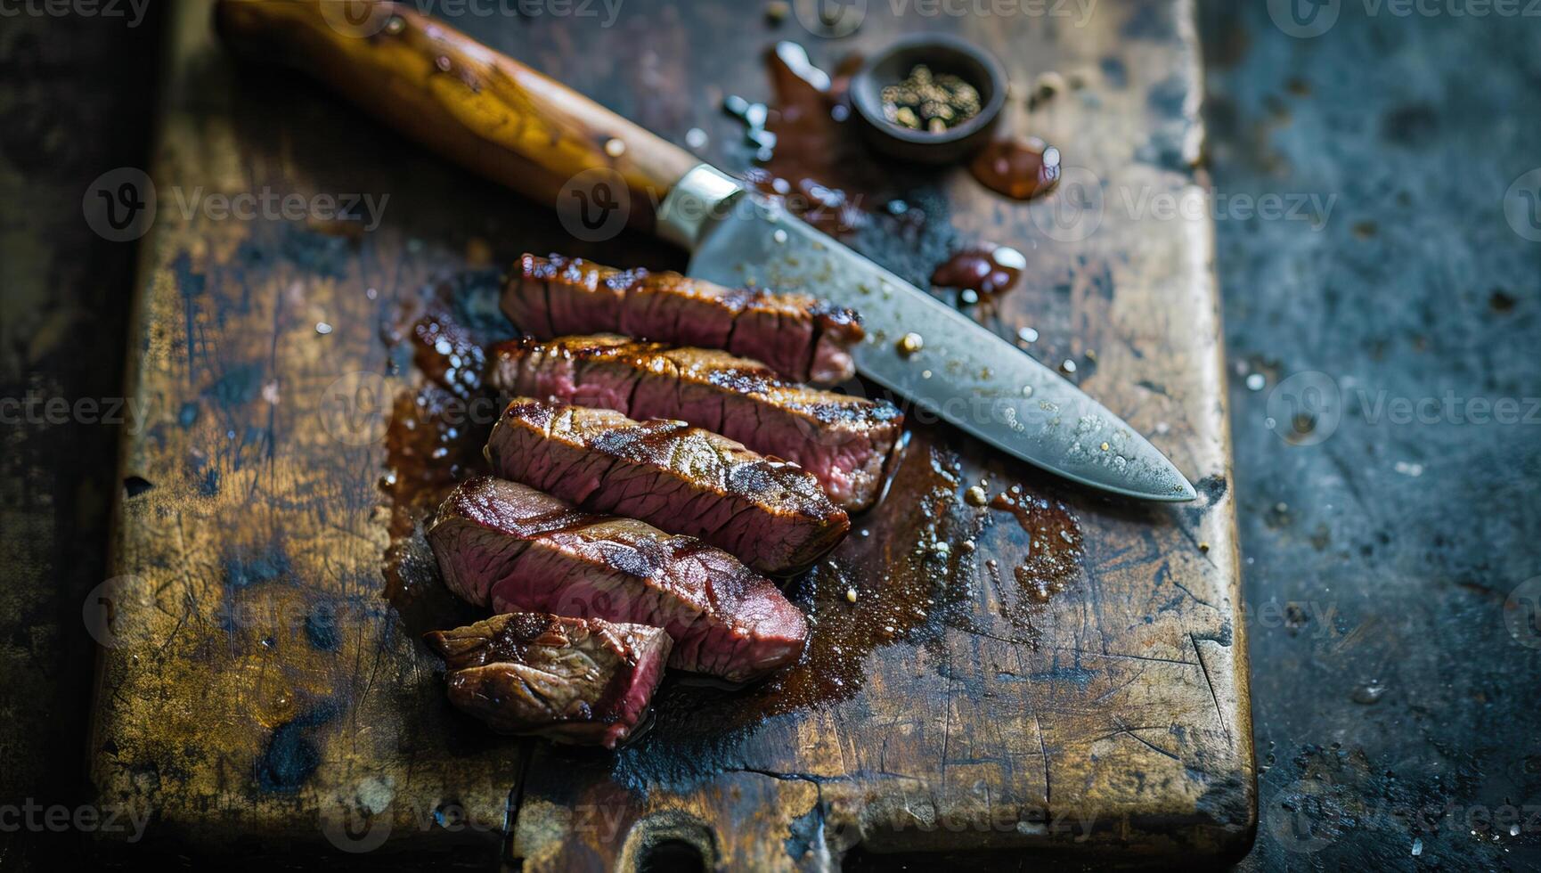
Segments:
[[[592,196],[593,185],[612,180],[630,194],[627,222],[650,230],[664,194],[700,163],[405,3],[219,0],[214,19],[234,51],[297,66],[413,139],[538,202]],[[596,173],[579,176],[584,171]],[[575,188],[587,190],[575,194]]]

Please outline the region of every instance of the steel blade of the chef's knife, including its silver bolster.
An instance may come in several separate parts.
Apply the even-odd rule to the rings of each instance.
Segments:
[[[1053,369],[710,165],[664,197],[658,231],[690,250],[690,276],[800,290],[860,312],[868,336],[857,370],[914,403],[922,420],[1113,494],[1196,497],[1156,446]]]

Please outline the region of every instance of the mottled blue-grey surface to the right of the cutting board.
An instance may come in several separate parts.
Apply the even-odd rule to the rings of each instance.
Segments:
[[[1319,228],[1216,222],[1267,767],[1247,865],[1536,868],[1541,637],[1504,602],[1541,574],[1541,242],[1504,199],[1541,165],[1541,19],[1328,3],[1291,37],[1273,6],[1204,14],[1217,194],[1333,197]],[[1311,444],[1267,427],[1328,386]]]

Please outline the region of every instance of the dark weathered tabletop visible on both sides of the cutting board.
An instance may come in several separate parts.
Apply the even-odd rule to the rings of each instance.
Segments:
[[[1541,25],[1392,6],[1342,3],[1314,39],[1287,35],[1261,0],[1204,15],[1217,193],[1233,208],[1234,194],[1336,196],[1319,230],[1224,207],[1217,221],[1227,339],[1245,370],[1231,401],[1268,767],[1245,862],[1257,870],[1541,862],[1541,640],[1504,620],[1506,597],[1541,574],[1541,430],[1492,412],[1478,424],[1469,404],[1398,424],[1387,406],[1449,390],[1515,398],[1524,416],[1541,395],[1541,245],[1502,213],[1510,182],[1541,165]],[[80,222],[80,194],[143,162],[148,34],[105,19],[0,26],[6,398],[119,393],[133,258]],[[1345,399],[1310,446],[1264,421],[1270,396],[1287,407],[1302,384],[1322,387],[1279,389],[1301,372],[1327,373]],[[91,665],[79,614],[105,566],[114,433],[0,432],[0,804],[74,807]],[[79,838],[0,833],[0,867],[55,868]]]

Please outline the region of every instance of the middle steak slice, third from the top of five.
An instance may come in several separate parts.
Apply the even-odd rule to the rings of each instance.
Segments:
[[[806,569],[851,531],[807,470],[684,421],[519,398],[493,427],[487,461],[493,475],[700,537],[766,574]]]

